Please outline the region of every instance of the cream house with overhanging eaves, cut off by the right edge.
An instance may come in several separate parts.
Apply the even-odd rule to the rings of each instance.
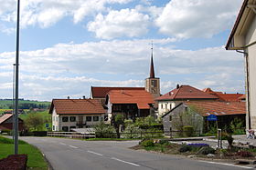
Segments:
[[[247,129],[256,129],[256,1],[244,0],[235,25],[229,35],[227,50],[244,55]]]

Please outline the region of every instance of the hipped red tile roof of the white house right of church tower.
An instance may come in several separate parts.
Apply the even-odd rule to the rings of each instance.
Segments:
[[[217,99],[215,95],[209,95],[190,85],[180,85],[165,95],[157,97],[155,100],[182,100],[182,99]]]

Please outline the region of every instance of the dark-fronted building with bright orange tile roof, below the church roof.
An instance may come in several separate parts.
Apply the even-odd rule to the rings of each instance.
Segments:
[[[126,119],[135,119],[136,117],[145,117],[153,112],[155,104],[154,97],[144,89],[136,90],[111,90],[106,95],[108,107],[108,117],[122,114]]]

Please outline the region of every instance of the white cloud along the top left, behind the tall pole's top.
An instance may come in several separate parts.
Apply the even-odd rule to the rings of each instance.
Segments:
[[[87,15],[108,11],[106,5],[127,4],[133,0],[26,0],[21,1],[21,26],[39,25],[43,28],[54,25],[64,16],[73,17],[79,23]],[[0,20],[16,21],[16,0],[0,0]]]

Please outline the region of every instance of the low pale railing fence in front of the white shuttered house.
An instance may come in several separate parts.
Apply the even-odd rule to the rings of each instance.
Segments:
[[[48,136],[55,136],[55,137],[69,137],[69,138],[95,138],[95,132],[90,133],[77,133],[77,132],[48,132]]]

